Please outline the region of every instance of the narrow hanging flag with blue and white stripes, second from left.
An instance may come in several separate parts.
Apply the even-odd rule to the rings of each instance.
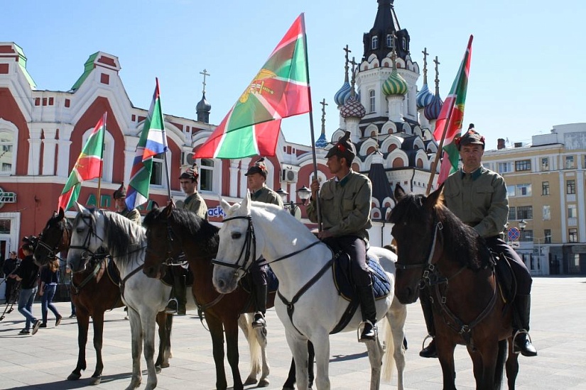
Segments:
[[[136,145],[136,153],[130,173],[128,191],[126,191],[126,207],[130,210],[140,206],[148,200],[148,189],[151,186],[151,172],[153,170],[153,156],[166,152],[167,135],[163,110],[161,109],[161,95],[156,79],[155,93],[151,108],[144,121],[141,138]]]

